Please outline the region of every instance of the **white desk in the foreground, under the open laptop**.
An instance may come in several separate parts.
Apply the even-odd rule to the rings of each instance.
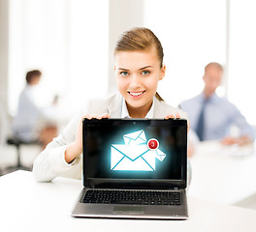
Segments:
[[[71,217],[81,189],[79,180],[56,178],[36,183],[30,172],[0,178],[0,230],[111,232],[255,232],[256,211],[222,206],[188,197],[187,220],[93,219]]]

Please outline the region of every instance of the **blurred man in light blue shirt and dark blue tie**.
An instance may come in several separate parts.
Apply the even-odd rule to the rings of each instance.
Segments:
[[[201,141],[219,139],[225,145],[251,143],[255,139],[253,128],[236,105],[219,98],[215,93],[222,76],[223,67],[218,63],[209,63],[203,76],[203,93],[181,102],[179,106],[188,113],[191,130],[197,133]],[[240,136],[230,135],[232,126],[240,129]]]

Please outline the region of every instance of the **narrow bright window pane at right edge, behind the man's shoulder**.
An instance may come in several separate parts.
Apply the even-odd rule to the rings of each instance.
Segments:
[[[256,2],[230,1],[230,66],[228,98],[249,123],[256,125]]]

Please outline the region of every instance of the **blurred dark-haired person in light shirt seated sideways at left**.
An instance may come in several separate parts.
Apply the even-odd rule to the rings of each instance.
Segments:
[[[44,149],[57,135],[57,127],[52,121],[56,102],[50,107],[41,107],[37,102],[36,87],[41,78],[42,73],[38,70],[26,73],[26,86],[19,96],[13,133],[22,142],[40,142]]]

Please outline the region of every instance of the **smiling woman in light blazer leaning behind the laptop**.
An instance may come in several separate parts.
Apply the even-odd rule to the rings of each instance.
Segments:
[[[80,115],[50,142],[34,162],[37,181],[47,182],[58,175],[81,177],[82,118],[186,118],[180,109],[164,102],[157,93],[164,78],[163,48],[147,28],[124,32],[114,49],[114,71],[118,93],[88,102]]]

